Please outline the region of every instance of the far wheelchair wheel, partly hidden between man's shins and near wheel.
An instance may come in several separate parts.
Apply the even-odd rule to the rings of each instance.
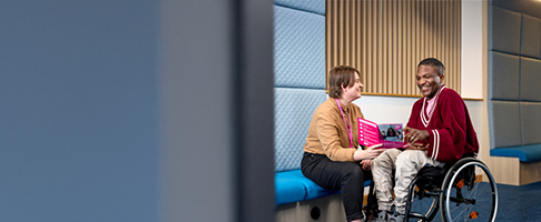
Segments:
[[[437,213],[440,195],[433,191],[425,190],[416,179],[412,181],[412,184],[414,185],[409,188],[410,192],[406,202],[409,221],[432,221]]]

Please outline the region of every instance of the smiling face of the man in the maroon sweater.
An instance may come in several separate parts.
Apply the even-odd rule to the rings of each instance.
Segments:
[[[419,65],[417,68],[417,87],[421,93],[429,99],[432,99],[440,90],[443,82],[443,74],[440,74],[440,69],[434,65]]]

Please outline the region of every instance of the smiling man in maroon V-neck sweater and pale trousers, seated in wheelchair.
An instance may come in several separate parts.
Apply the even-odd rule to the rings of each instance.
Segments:
[[[434,58],[417,65],[416,83],[424,98],[413,104],[404,128],[404,147],[390,149],[372,161],[380,213],[373,221],[404,221],[407,186],[425,165],[452,164],[479,143],[462,98],[443,84],[445,68]],[[394,182],[393,169],[396,170]],[[393,184],[396,199],[393,201]],[[395,205],[396,213],[392,214]]]

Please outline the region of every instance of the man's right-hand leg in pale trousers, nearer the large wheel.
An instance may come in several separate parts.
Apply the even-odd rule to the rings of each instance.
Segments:
[[[396,158],[396,186],[394,188],[396,199],[394,204],[397,213],[405,213],[407,186],[417,175],[421,168],[425,165],[443,167],[443,163],[426,157],[426,152],[419,150],[406,150]]]

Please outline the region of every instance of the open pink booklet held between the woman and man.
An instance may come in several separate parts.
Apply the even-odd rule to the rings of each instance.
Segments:
[[[357,118],[358,143],[371,147],[382,144],[382,148],[402,148],[402,123],[377,124],[370,120]]]

